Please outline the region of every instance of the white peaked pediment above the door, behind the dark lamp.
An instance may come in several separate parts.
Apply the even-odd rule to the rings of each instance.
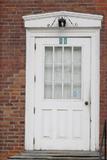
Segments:
[[[26,28],[58,28],[58,19],[66,20],[65,28],[101,28],[102,15],[59,11],[23,16]]]

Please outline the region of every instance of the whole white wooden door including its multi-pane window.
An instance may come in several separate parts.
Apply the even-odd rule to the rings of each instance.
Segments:
[[[90,38],[35,41],[34,148],[89,150]]]

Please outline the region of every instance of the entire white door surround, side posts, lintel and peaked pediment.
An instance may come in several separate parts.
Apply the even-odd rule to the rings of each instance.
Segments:
[[[70,14],[71,13],[71,14]],[[89,37],[91,39],[91,76],[90,76],[90,116],[91,116],[91,140],[90,149],[97,150],[99,148],[99,64],[100,64],[100,28],[102,16],[100,15],[89,15],[89,14],[79,14],[72,12],[55,12],[48,14],[39,14],[34,16],[24,16],[25,27],[26,27],[26,117],[25,117],[25,149],[32,150],[33,137],[35,135],[34,130],[34,114],[33,107],[35,104],[35,92],[34,92],[34,43],[35,38],[38,37],[59,37],[59,36],[70,36],[70,37]],[[58,29],[58,27],[47,27],[47,20],[51,24],[51,17],[64,16],[75,18],[74,23],[78,23],[78,26],[71,26],[68,23],[68,27],[65,29]],[[41,17],[41,18],[40,18]],[[40,22],[38,22],[38,19]],[[49,20],[50,19],[50,20]],[[84,23],[79,19],[85,20]],[[89,23],[89,20],[91,23]],[[72,19],[71,19],[72,21]],[[46,23],[45,23],[46,22]],[[36,25],[40,24],[40,25]],[[43,25],[41,25],[43,24]],[[55,23],[54,23],[55,25]],[[56,24],[57,25],[57,24]]]

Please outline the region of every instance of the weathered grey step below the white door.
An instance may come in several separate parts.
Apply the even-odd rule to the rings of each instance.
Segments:
[[[90,151],[25,151],[8,160],[99,160],[99,153]]]

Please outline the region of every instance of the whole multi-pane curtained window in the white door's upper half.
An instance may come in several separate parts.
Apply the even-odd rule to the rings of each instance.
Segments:
[[[45,98],[81,98],[81,54],[81,47],[45,47]]]

